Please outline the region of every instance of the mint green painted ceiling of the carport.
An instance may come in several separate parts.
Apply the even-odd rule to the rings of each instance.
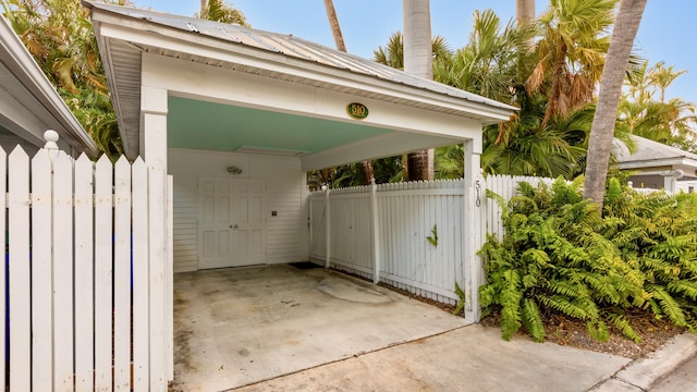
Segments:
[[[317,152],[389,130],[169,97],[168,146],[233,151],[241,146]]]

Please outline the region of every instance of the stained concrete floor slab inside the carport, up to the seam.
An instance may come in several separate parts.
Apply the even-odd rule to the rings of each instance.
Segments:
[[[173,391],[221,391],[465,327],[462,317],[323,268],[174,275]]]

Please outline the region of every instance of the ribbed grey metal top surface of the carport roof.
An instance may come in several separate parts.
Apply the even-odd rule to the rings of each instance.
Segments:
[[[517,108],[451,87],[435,81],[417,77],[406,72],[370,61],[358,56],[342,52],[322,45],[295,37],[290,34],[270,33],[239,25],[199,20],[187,16],[125,8],[112,4],[84,1],[91,8],[101,9],[133,19],[145,20],[158,25],[205,35],[216,39],[244,45],[246,47],[280,53],[352,73],[368,75],[383,81],[417,87],[433,93],[461,98],[497,109],[518,110]]]

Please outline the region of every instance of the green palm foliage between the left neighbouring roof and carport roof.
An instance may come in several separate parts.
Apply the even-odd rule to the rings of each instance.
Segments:
[[[77,1],[1,4],[15,33],[100,150],[112,159],[120,156],[121,138],[89,11]]]

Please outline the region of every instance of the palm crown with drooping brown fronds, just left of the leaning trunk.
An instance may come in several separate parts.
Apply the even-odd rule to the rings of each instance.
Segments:
[[[548,98],[542,127],[552,117],[566,115],[594,98],[615,3],[616,0],[551,0],[549,10],[540,15],[538,62],[526,88]]]

